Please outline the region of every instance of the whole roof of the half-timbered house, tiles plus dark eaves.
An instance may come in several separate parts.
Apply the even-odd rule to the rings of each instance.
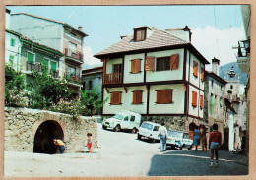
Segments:
[[[133,35],[129,35],[126,38],[114,43],[113,45],[105,48],[104,50],[95,54],[96,58],[103,58],[105,56],[128,53],[128,52],[142,52],[147,50],[153,50],[158,48],[168,48],[168,47],[189,47],[191,50],[201,58],[205,64],[210,64],[190,43],[181,38],[178,38],[165,30],[160,30],[158,28],[152,27],[153,33],[143,41],[134,41]]]

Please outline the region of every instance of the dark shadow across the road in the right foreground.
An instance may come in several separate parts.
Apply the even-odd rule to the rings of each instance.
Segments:
[[[210,151],[171,150],[156,154],[149,176],[247,175],[248,165],[235,163],[232,152],[220,151],[219,167],[210,167]]]

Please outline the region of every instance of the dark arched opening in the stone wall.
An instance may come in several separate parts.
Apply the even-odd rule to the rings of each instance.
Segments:
[[[64,134],[58,122],[44,121],[38,127],[34,135],[33,152],[54,154],[58,146],[53,144],[53,138],[63,140]]]

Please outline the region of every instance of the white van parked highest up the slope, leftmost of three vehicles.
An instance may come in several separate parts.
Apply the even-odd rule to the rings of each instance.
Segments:
[[[115,132],[120,130],[131,130],[136,133],[141,124],[141,115],[131,111],[120,111],[113,117],[104,119],[102,122],[103,129],[113,129]]]

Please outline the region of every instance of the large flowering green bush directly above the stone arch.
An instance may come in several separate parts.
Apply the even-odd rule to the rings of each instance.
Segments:
[[[28,84],[29,106],[35,109],[49,109],[57,104],[61,98],[68,98],[71,94],[67,88],[66,79],[58,79],[48,73],[46,66],[42,64],[42,72],[32,73],[33,81]]]

